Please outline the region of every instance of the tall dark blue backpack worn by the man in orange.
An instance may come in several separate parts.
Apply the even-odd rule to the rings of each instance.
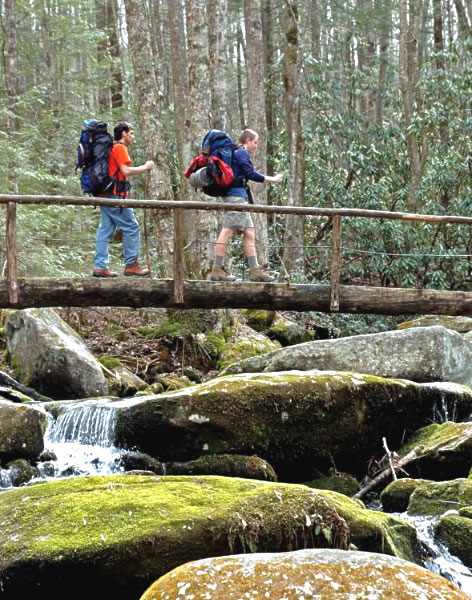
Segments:
[[[108,174],[108,158],[113,146],[113,138],[108,133],[108,123],[87,119],[82,127],[75,167],[76,171],[82,170],[82,191],[92,196],[112,192],[116,182]]]

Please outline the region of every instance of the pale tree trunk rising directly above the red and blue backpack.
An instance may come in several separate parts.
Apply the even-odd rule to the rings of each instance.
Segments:
[[[212,129],[226,129],[227,13],[228,0],[208,0]]]

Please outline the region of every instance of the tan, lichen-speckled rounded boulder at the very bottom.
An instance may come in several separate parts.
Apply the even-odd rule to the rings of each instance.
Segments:
[[[440,575],[367,552],[299,550],[198,560],[156,581],[141,600],[283,598],[284,600],[467,600]]]

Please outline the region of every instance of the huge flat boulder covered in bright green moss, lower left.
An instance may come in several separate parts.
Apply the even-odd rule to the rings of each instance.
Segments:
[[[4,600],[38,589],[48,600],[129,600],[209,555],[349,545],[345,521],[314,490],[229,477],[114,475],[17,488],[0,494],[0,527]]]

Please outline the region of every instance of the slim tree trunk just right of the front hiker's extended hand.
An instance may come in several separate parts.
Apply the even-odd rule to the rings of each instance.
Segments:
[[[289,206],[303,205],[305,195],[305,148],[300,110],[301,52],[298,37],[298,0],[286,0],[284,28],[286,46],[283,60],[285,120],[288,134],[288,199]],[[283,262],[285,269],[303,270],[303,219],[287,215]]]

